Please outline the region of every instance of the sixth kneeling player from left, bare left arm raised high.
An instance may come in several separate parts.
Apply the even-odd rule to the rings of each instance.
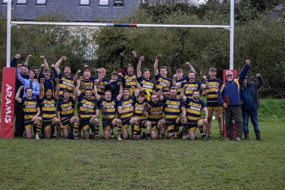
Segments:
[[[119,101],[118,107],[117,107],[119,114],[121,114],[121,120],[122,120],[122,125],[123,125],[122,127],[123,139],[127,139],[129,136],[128,135],[129,124],[131,126],[134,125],[134,129],[138,129],[139,124],[140,124],[139,118],[134,117],[133,111],[134,111],[135,100],[137,99],[141,91],[141,86],[135,77],[133,77],[132,80],[135,81],[137,85],[137,90],[131,97],[129,97],[130,90],[128,88],[124,88],[123,98]],[[137,139],[133,138],[133,140],[137,140]]]

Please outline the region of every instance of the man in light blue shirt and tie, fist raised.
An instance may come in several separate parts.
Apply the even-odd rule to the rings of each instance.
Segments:
[[[24,89],[26,88],[32,89],[33,98],[36,98],[36,96],[40,94],[40,83],[34,80],[35,71],[33,69],[29,70],[29,79],[25,79],[20,75],[21,66],[22,66],[21,64],[18,64],[16,77],[23,84]],[[23,97],[27,97],[27,95],[24,93]]]

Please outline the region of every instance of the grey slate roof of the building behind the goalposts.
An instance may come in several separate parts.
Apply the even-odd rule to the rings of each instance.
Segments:
[[[59,10],[59,13],[69,13],[73,21],[96,22],[104,18],[104,21],[116,19],[119,15],[131,13],[130,7],[137,7],[137,0],[124,0],[123,6],[114,6],[113,0],[109,0],[109,6],[99,5],[100,0],[89,0],[88,6],[79,5],[80,0],[46,0],[46,5],[36,5],[36,0],[27,0],[27,4],[17,4],[18,0],[12,1],[11,17],[22,18],[31,21],[38,13],[51,13],[52,10]],[[0,12],[7,15],[7,3],[0,0]]]

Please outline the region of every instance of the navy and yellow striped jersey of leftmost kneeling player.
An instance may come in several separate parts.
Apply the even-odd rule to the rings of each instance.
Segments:
[[[36,109],[40,107],[40,104],[35,98],[28,99],[27,97],[22,98],[21,104],[25,113],[25,122],[28,122],[36,115]]]

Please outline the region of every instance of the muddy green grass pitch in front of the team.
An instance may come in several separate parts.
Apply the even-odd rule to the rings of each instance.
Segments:
[[[285,189],[285,101],[261,102],[264,141],[219,140],[216,120],[210,141],[0,139],[0,189]]]

